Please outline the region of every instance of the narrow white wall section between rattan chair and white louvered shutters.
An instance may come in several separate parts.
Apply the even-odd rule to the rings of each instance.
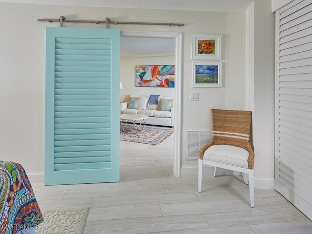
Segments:
[[[253,110],[255,187],[274,188],[274,13],[271,0],[246,11],[246,106]]]

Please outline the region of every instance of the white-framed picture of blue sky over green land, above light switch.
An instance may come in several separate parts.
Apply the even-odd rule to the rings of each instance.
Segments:
[[[222,87],[221,62],[192,62],[193,87]]]

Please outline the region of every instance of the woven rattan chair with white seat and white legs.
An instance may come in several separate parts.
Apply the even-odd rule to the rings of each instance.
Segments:
[[[254,207],[254,151],[251,147],[251,111],[212,109],[211,140],[199,151],[198,192],[202,187],[203,165],[241,172],[249,184],[250,206]]]

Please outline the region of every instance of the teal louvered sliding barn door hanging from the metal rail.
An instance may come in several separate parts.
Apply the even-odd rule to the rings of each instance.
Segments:
[[[45,184],[119,181],[117,29],[46,29]]]

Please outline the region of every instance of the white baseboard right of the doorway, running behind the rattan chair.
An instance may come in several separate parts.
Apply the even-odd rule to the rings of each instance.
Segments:
[[[214,167],[204,166],[203,175],[213,175]],[[235,175],[237,172],[232,172],[229,170],[219,169],[218,174],[223,175]],[[185,165],[181,167],[181,176],[194,176],[198,175],[198,166],[197,165]],[[254,188],[256,189],[274,189],[274,178],[257,178],[254,177]]]

